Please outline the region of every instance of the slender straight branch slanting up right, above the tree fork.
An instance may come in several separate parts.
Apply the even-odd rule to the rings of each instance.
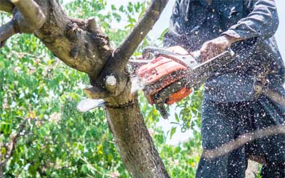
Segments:
[[[152,26],[160,18],[160,14],[163,9],[165,9],[167,2],[168,0],[152,0],[150,6],[142,16],[142,19],[138,21],[130,35],[125,38],[125,41],[123,41],[123,43],[121,43],[114,51],[113,60],[110,61],[110,63],[115,61],[112,66],[115,66],[115,68],[120,71],[125,69],[130,56],[133,55],[143,38],[147,36],[147,33],[152,29]],[[108,67],[110,68],[110,66]]]

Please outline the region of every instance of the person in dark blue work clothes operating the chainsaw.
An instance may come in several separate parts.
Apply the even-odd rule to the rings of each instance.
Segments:
[[[204,83],[202,147],[219,149],[241,135],[285,125],[284,62],[274,33],[274,0],[176,0],[165,46],[200,50],[207,61],[227,48],[236,56]],[[258,90],[259,89],[259,90]],[[261,177],[285,177],[285,135],[259,137],[217,157],[202,155],[196,177],[245,177],[249,157],[263,160]]]

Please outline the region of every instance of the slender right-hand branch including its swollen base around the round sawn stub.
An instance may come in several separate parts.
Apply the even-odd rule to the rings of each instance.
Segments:
[[[145,11],[142,19],[138,21],[133,31],[130,35],[125,38],[125,41],[120,44],[118,48],[115,49],[113,55],[108,59],[105,64],[102,73],[98,78],[93,78],[91,84],[93,92],[89,93],[94,99],[106,98],[109,96],[117,96],[125,90],[128,75],[125,75],[125,66],[128,63],[130,56],[133,55],[135,49],[138,48],[143,38],[147,36],[147,33],[151,30],[152,26],[159,19],[162,10],[165,8],[168,0],[152,0],[150,6]],[[114,75],[117,84],[115,89],[109,90],[105,86],[108,84],[103,84],[108,75]],[[95,81],[95,82],[93,82]],[[91,90],[88,90],[89,92]]]

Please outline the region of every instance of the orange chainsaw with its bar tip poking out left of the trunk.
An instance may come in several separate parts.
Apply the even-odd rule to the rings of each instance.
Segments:
[[[163,118],[169,114],[165,105],[172,105],[192,93],[193,88],[199,88],[214,70],[227,65],[234,60],[232,50],[202,62],[201,53],[188,53],[180,46],[170,48],[147,47],[142,51],[142,59],[130,60],[130,66],[135,66],[135,84],[142,86],[147,101],[155,105]],[[88,105],[88,103],[93,103]],[[95,105],[103,105],[103,101],[83,100],[78,110],[85,112]]]

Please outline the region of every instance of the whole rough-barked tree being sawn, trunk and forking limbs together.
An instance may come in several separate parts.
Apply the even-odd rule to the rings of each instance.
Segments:
[[[4,1],[0,9],[11,12],[10,1],[0,0]],[[11,22],[1,28],[4,30],[0,33],[0,45],[14,33],[33,33],[61,61],[87,73],[92,84],[99,85],[100,90],[106,90],[103,82],[107,75],[112,74],[120,92],[118,88],[110,87],[115,90],[113,95],[106,95],[111,93],[108,91],[101,96],[108,101],[108,123],[125,166],[132,177],[169,177],[140,113],[138,96],[130,94],[130,80],[124,71],[128,58],[157,21],[167,0],[152,1],[145,16],[118,49],[110,46],[108,36],[96,27],[94,19],[69,18],[57,0],[25,1],[38,4],[38,11],[45,18],[43,26],[33,26],[31,23],[35,20],[25,21],[21,14],[30,13],[26,11],[25,4],[21,4],[21,8],[14,9]],[[16,3],[14,5],[17,6]],[[35,18],[41,17],[35,14]]]

